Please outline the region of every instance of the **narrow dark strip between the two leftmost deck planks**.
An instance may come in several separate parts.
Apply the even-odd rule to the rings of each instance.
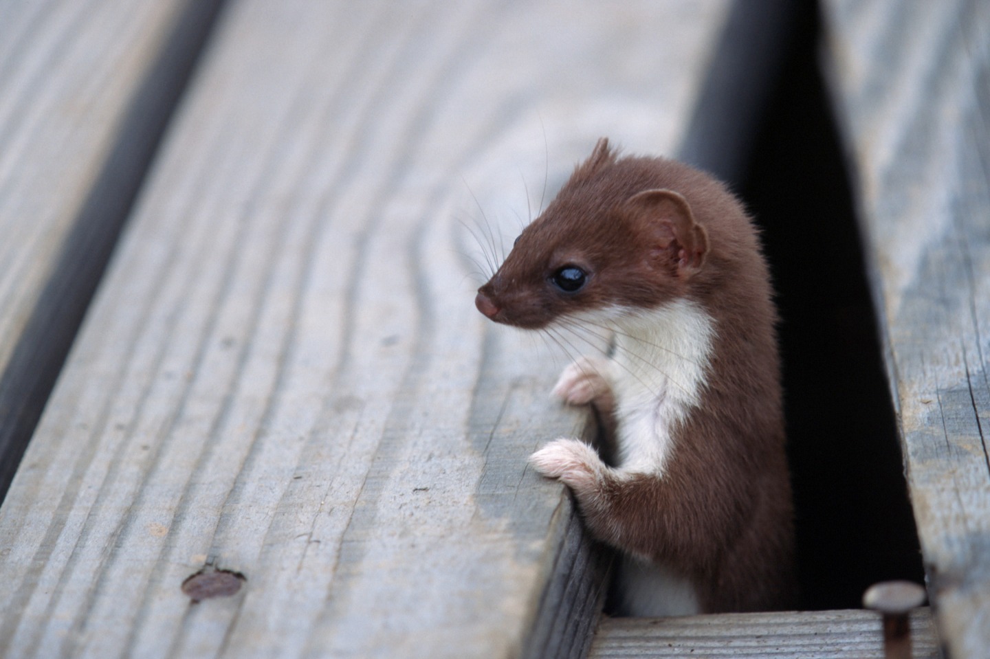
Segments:
[[[124,114],[116,143],[0,378],[0,503],[223,4],[190,0],[181,12]]]

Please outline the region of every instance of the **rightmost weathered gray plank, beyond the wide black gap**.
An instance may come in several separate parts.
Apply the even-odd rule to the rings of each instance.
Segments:
[[[990,647],[990,5],[825,3],[929,590]]]

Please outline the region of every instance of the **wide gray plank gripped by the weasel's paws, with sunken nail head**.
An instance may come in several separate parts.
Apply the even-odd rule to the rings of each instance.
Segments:
[[[0,509],[0,654],[580,655],[600,561],[526,458],[582,420],[461,223],[672,152],[728,6],[232,6]]]

